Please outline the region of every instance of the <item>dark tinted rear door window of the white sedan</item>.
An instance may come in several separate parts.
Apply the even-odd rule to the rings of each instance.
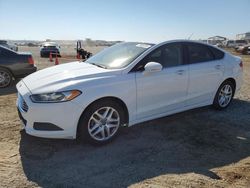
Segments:
[[[189,63],[201,63],[214,60],[209,48],[202,44],[188,44]]]

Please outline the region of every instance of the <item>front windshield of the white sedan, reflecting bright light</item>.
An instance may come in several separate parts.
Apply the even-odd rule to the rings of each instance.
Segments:
[[[107,69],[123,68],[129,65],[151,46],[153,45],[135,42],[119,43],[89,58],[87,63]]]

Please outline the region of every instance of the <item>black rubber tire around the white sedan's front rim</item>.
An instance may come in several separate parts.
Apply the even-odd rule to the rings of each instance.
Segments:
[[[91,117],[92,115],[94,115],[94,113],[102,108],[105,107],[111,107],[112,109],[115,109],[116,112],[119,114],[119,126],[116,130],[116,132],[112,135],[112,137],[106,139],[106,140],[96,140],[94,139],[90,133],[89,133],[89,126],[90,126],[90,121],[91,121]],[[94,145],[103,145],[103,144],[107,144],[109,142],[111,142],[118,134],[119,134],[119,130],[121,125],[125,124],[125,111],[124,109],[121,107],[121,105],[119,105],[118,103],[112,101],[112,100],[98,100],[96,102],[94,102],[91,106],[89,106],[86,111],[82,114],[79,123],[78,123],[78,139],[81,142],[89,142],[91,144]],[[99,129],[99,128],[97,128]],[[105,133],[106,136],[107,132]]]

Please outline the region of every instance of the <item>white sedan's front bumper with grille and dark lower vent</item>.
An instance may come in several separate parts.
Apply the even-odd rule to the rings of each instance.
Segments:
[[[31,92],[23,81],[17,84],[17,90],[18,113],[27,134],[43,138],[76,138],[78,120],[82,113],[77,104],[72,101],[33,103],[30,100]]]

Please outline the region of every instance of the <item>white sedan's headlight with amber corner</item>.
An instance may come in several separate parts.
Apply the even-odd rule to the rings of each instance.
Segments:
[[[54,93],[35,94],[31,95],[30,98],[35,103],[56,103],[70,101],[81,95],[81,93],[81,91],[72,90]]]

